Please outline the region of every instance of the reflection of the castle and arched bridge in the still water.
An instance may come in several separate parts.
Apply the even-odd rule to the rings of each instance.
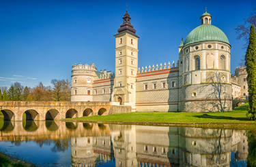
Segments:
[[[248,156],[245,130],[56,121],[4,122],[0,128],[1,141],[53,140],[62,151],[71,147],[72,166],[246,166]]]

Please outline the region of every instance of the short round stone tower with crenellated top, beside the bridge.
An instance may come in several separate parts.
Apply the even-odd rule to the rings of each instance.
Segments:
[[[72,66],[71,101],[92,101],[92,82],[96,77],[94,64]]]

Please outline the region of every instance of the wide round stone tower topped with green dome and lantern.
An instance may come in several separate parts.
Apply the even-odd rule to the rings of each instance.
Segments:
[[[179,46],[180,111],[231,110],[229,40],[205,12],[201,25]]]

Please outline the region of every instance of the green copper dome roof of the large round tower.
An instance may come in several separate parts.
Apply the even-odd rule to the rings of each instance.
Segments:
[[[201,41],[220,41],[229,44],[229,39],[221,29],[212,24],[201,24],[186,37],[184,45]]]

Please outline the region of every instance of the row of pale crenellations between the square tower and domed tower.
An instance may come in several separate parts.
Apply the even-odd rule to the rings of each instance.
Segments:
[[[166,62],[164,62],[162,64],[162,62],[158,65],[149,65],[148,67],[141,67],[141,69],[138,69],[138,73],[145,73],[145,72],[150,72],[150,71],[159,71],[159,70],[163,70],[163,69],[171,69],[175,67],[175,62],[173,61],[172,63],[168,62],[168,64]]]

